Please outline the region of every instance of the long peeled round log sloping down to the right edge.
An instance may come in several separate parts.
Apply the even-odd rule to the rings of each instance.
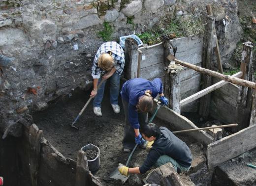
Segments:
[[[221,79],[221,80],[225,80],[225,81],[228,81],[228,82],[231,82],[231,83],[234,83],[234,84],[239,84],[239,85],[242,85],[242,86],[247,86],[247,87],[255,88],[255,84],[256,84],[255,82],[248,81],[248,80],[241,80],[241,79],[236,78],[236,77],[231,77],[229,75],[224,75],[224,74],[212,71],[212,70],[208,70],[208,69],[205,69],[205,68],[202,68],[202,67],[198,67],[196,65],[193,65],[193,64],[190,64],[190,63],[178,60],[178,59],[173,59],[173,57],[174,56],[172,56],[172,55],[168,55],[167,59],[169,61],[173,61],[174,60],[176,63],[178,63],[178,64],[180,64],[180,65],[182,65],[184,67],[188,67],[190,69],[193,69],[193,70],[195,70],[197,72],[200,72],[202,74],[207,74],[209,76],[213,76],[215,78],[218,78],[218,79]]]

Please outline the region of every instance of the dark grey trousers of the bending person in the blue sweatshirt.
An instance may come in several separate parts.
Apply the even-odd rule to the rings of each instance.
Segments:
[[[128,120],[128,102],[123,100],[124,112],[126,115],[126,124],[125,124],[125,135],[123,139],[123,147],[125,149],[132,150],[135,146],[135,133],[134,129],[131,127]],[[138,113],[138,119],[140,124],[140,129],[148,122],[148,113]]]

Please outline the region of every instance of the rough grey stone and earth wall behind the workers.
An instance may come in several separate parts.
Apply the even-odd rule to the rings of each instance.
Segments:
[[[175,16],[205,17],[208,3],[221,54],[228,58],[241,31],[236,0],[1,0],[0,131],[60,95],[90,88],[91,64],[103,43],[97,32],[104,22],[118,40]],[[9,131],[20,136],[20,129],[17,123]]]

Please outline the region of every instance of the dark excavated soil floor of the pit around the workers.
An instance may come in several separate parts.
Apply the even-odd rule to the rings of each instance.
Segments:
[[[115,114],[110,105],[107,87],[106,85],[101,106],[102,117],[94,115],[93,104],[90,103],[74,124],[79,130],[71,128],[70,124],[89,99],[89,91],[75,90],[71,97],[70,95],[63,96],[49,104],[46,110],[33,113],[33,119],[39,129],[43,131],[44,137],[66,158],[76,160],[77,152],[82,147],[89,143],[96,145],[100,150],[100,168],[95,176],[104,186],[116,186],[121,185],[121,182],[110,179],[109,175],[118,167],[119,162],[126,164],[129,153],[123,152],[122,146],[125,124],[122,104],[120,104],[121,113]],[[121,100],[119,103],[122,103]],[[173,131],[169,124],[160,119],[156,118],[153,122]],[[177,136],[187,145],[195,143],[185,133]],[[137,148],[129,166],[140,166],[146,156],[145,150]],[[142,186],[144,185],[142,178],[146,176],[147,174],[131,175],[125,185]]]

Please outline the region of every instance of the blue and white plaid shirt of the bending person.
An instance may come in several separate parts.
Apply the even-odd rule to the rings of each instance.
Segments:
[[[103,43],[99,47],[95,55],[93,66],[92,66],[93,79],[99,79],[100,74],[104,72],[101,68],[98,67],[98,58],[101,54],[107,53],[108,51],[112,52],[116,73],[119,74],[120,76],[122,75],[122,72],[125,67],[125,52],[118,43],[114,41],[109,41],[109,42]]]

